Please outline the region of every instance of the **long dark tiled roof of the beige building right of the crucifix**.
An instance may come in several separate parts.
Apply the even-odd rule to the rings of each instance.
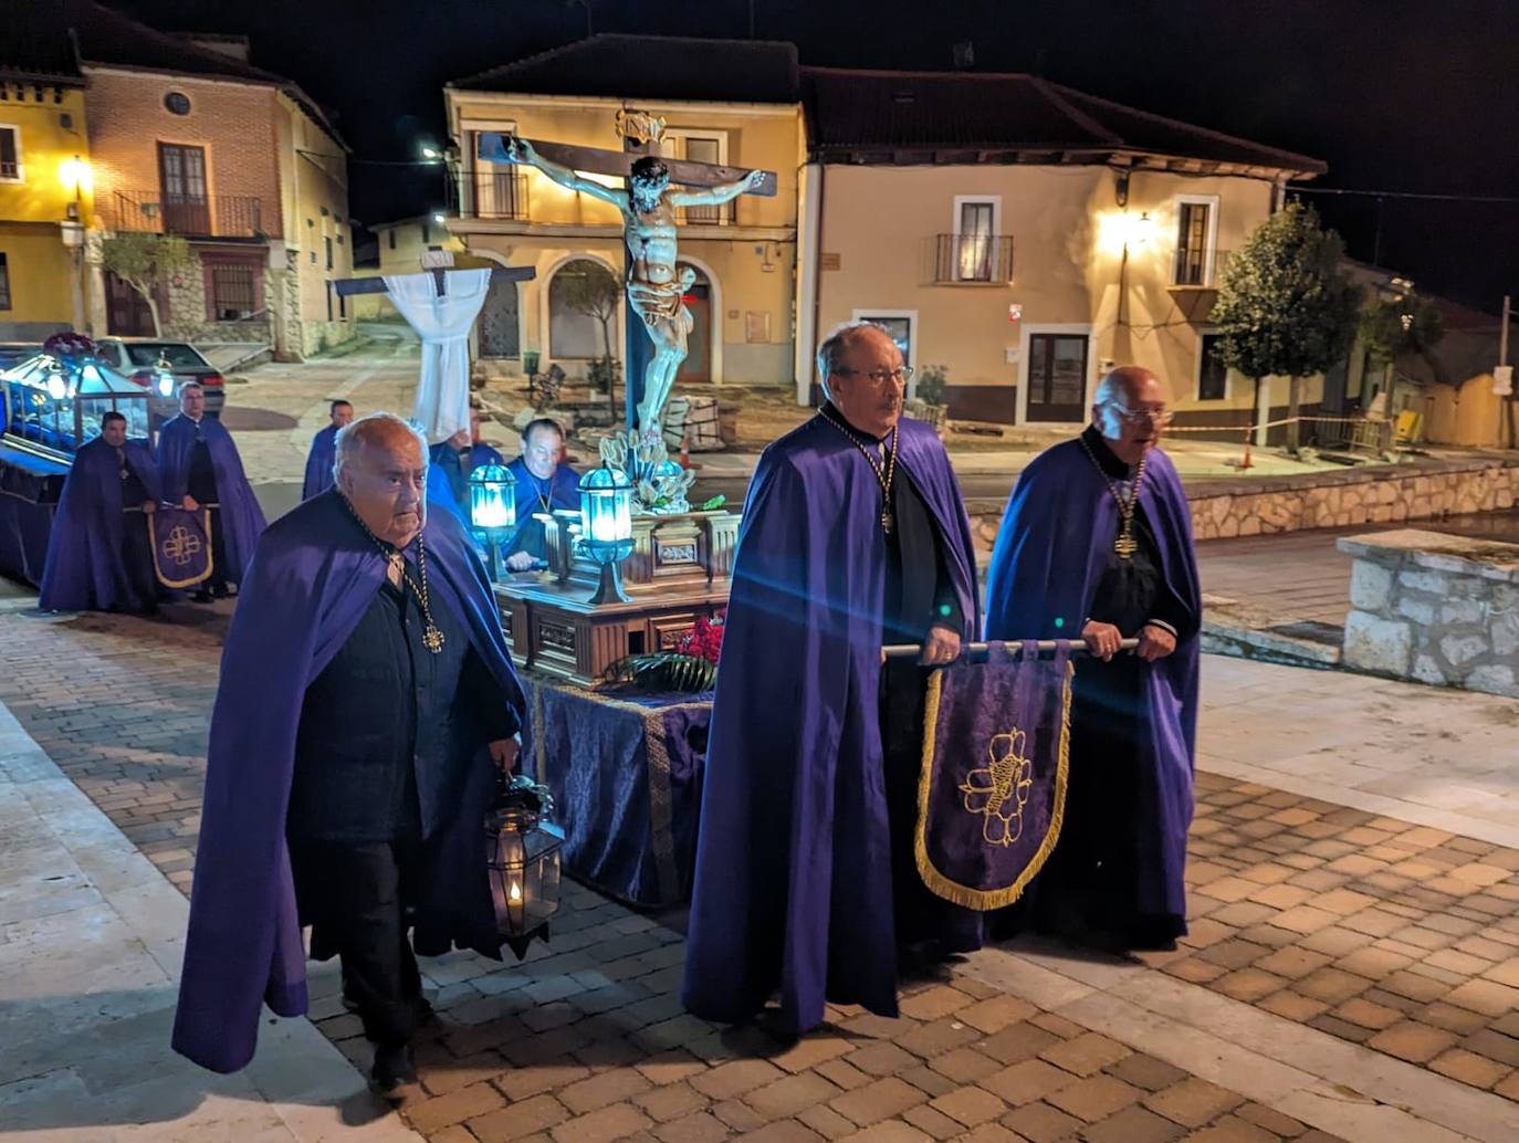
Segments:
[[[814,155],[854,162],[1115,155],[1323,173],[1267,147],[1024,74],[802,68]],[[1056,159],[1060,161],[1060,159]]]

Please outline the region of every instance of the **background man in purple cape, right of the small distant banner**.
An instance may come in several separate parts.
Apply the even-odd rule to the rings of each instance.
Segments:
[[[197,600],[226,595],[242,583],[264,513],[243,475],[237,445],[216,417],[205,416],[205,390],[194,381],[179,386],[179,414],[158,431],[158,486],[169,504],[185,512],[211,509],[211,578]]]

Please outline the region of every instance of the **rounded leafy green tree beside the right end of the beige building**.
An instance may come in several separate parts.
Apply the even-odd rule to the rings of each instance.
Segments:
[[[1334,366],[1350,348],[1361,287],[1344,272],[1344,243],[1318,226],[1318,213],[1288,203],[1224,267],[1211,322],[1218,360],[1252,378],[1290,381],[1288,449],[1300,440],[1297,414],[1305,376]]]

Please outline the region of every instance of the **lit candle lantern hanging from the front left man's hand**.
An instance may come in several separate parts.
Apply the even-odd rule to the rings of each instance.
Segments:
[[[518,774],[503,782],[485,817],[495,927],[516,959],[527,955],[535,937],[548,940],[548,921],[559,911],[559,850],[565,835],[551,814],[548,789]]]

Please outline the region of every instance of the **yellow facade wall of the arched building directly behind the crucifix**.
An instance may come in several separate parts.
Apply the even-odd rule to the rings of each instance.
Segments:
[[[475,131],[515,131],[526,138],[617,150],[617,100],[550,99],[533,96],[489,97],[447,93],[453,129],[463,150]],[[700,269],[712,285],[712,379],[720,384],[793,383],[793,329],[796,266],[797,167],[805,149],[796,106],[734,103],[638,103],[639,111],[662,115],[671,134],[679,129],[726,132],[726,164],[773,170],[775,197],[741,196],[732,225],[682,225],[681,260]],[[474,181],[497,168],[465,155],[465,214]],[[608,179],[611,185],[617,185]],[[521,345],[548,355],[547,298],[553,273],[567,260],[595,255],[618,278],[623,266],[621,217],[586,194],[568,191],[536,170],[527,172],[527,220],[457,219],[450,226],[469,250],[494,255],[510,266],[533,266],[538,278],[521,284]],[[381,238],[381,257],[386,253]],[[769,267],[769,269],[766,269]],[[750,322],[750,314],[755,316]],[[764,317],[760,317],[760,316]],[[750,342],[769,320],[769,338]],[[621,335],[614,352],[621,357]],[[571,375],[583,361],[561,361]]]

